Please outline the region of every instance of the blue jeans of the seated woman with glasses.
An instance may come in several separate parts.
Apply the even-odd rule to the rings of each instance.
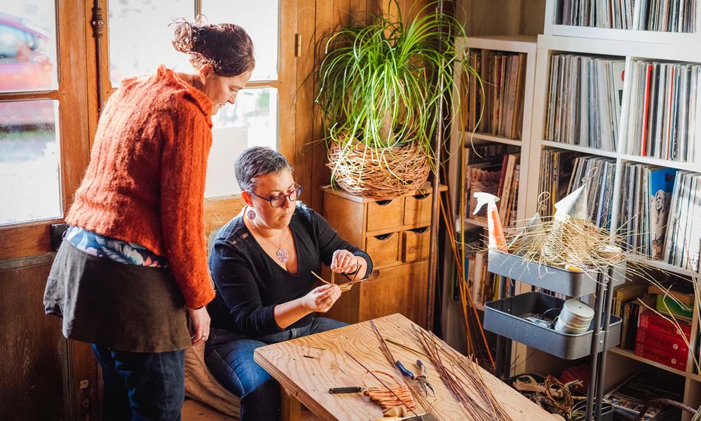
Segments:
[[[205,363],[222,386],[240,396],[239,421],[277,421],[280,413],[280,384],[253,361],[255,349],[343,326],[346,323],[342,321],[320,317],[303,328],[287,329],[255,339],[212,329],[205,345]]]

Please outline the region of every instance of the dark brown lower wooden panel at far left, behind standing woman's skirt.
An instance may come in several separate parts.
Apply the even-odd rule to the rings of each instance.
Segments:
[[[0,420],[69,419],[67,340],[42,304],[50,266],[0,272]]]

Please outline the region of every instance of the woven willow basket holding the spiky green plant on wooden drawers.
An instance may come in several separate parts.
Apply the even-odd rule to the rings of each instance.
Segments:
[[[426,151],[416,143],[374,148],[355,139],[332,142],[327,165],[337,185],[374,199],[414,192],[423,187],[430,172]]]

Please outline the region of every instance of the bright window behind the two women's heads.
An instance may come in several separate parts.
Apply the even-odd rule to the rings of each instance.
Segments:
[[[279,0],[254,2],[202,0],[205,22],[231,22],[250,34],[256,68],[235,105],[212,117],[212,149],[207,163],[205,197],[239,193],[233,161],[246,147],[278,148]],[[142,2],[109,0],[109,81],[118,86],[124,77],[154,72],[163,63],[179,72],[192,72],[186,55],[170,45],[168,24],[177,18],[193,20],[192,0]],[[139,28],[138,31],[133,30]]]

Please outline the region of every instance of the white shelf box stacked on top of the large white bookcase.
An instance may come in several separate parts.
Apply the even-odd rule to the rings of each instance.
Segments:
[[[613,39],[655,44],[685,44],[687,46],[697,46],[701,41],[701,3],[699,0],[697,0],[696,5],[696,32],[693,33],[559,25],[555,23],[555,13],[557,4],[560,2],[562,0],[545,0],[545,22],[543,25],[543,33],[545,35]],[[634,7],[638,7],[638,3],[639,0],[634,0]]]

